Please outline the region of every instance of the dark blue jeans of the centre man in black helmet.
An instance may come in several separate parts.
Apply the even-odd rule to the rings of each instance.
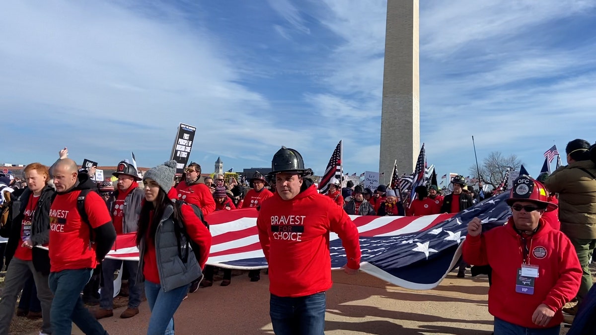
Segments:
[[[325,292],[304,297],[271,294],[269,315],[276,335],[322,335],[325,330]]]

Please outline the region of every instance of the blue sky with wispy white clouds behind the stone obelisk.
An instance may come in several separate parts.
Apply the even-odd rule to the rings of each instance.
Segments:
[[[148,4],[150,3],[150,4]],[[386,1],[13,1],[0,5],[0,162],[169,157],[179,122],[212,172],[281,145],[322,173],[378,170]],[[421,1],[421,142],[439,174],[491,151],[538,173],[596,139],[596,1]],[[564,159],[563,159],[564,162]],[[565,162],[564,162],[565,163]]]

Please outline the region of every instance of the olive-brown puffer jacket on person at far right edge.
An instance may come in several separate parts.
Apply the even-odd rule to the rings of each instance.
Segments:
[[[596,239],[596,166],[591,160],[561,166],[545,180],[559,194],[561,231],[570,238]]]

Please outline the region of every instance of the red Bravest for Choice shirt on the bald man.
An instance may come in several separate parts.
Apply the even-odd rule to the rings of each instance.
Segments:
[[[82,222],[77,210],[80,191],[57,194],[49,209],[49,263],[51,272],[95,268],[95,246],[89,246],[89,225]],[[93,228],[110,223],[105,201],[95,192],[85,199],[85,212]]]

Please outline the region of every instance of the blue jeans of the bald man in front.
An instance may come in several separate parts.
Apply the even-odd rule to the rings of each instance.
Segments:
[[[72,322],[87,335],[107,335],[80,297],[92,272],[93,269],[76,269],[49,274],[49,289],[54,293],[50,312],[52,335],[72,334]]]

